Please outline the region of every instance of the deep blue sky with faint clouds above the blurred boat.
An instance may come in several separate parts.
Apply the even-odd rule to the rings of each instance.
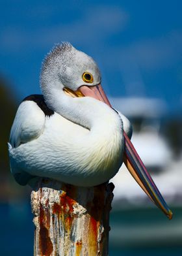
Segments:
[[[57,42],[94,57],[112,97],[157,97],[182,109],[182,2],[1,1],[0,73],[19,100],[40,93],[42,59]]]

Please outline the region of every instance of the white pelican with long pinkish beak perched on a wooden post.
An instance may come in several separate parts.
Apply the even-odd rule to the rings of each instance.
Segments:
[[[42,95],[19,105],[8,150],[16,182],[53,178],[90,187],[112,178],[124,161],[136,182],[168,216],[172,212],[131,143],[132,127],[101,87],[98,65],[72,44],[57,44],[44,59]]]

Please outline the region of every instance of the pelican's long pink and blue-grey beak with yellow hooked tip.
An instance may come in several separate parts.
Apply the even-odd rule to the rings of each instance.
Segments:
[[[107,99],[107,96],[101,87],[101,84],[98,84],[97,86],[81,86],[77,91],[70,91],[68,88],[65,89],[68,90],[65,92],[72,95],[72,97],[93,97],[94,99],[103,101],[112,108],[109,103],[109,99]],[[152,202],[156,204],[169,219],[172,219],[172,211],[168,208],[165,200],[159,192],[159,189],[157,189],[157,186],[153,182],[149,172],[146,170],[144,163],[131,143],[131,140],[124,131],[123,136],[125,138],[123,155],[123,162],[125,163],[125,166],[133,178],[135,178],[138,185],[140,185],[140,187],[148,195],[149,199],[151,199]]]

